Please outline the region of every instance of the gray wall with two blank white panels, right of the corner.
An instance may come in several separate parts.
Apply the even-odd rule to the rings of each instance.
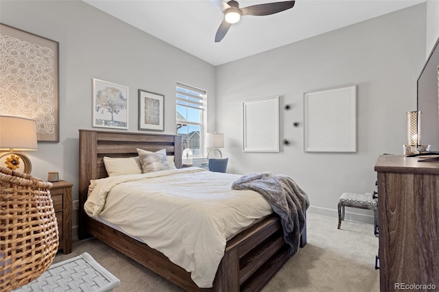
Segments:
[[[416,79],[425,60],[425,3],[217,66],[217,131],[228,171],[291,176],[309,194],[311,212],[336,216],[343,192],[372,193],[379,154],[402,154],[406,116],[416,110]],[[303,151],[303,94],[357,84],[357,153]],[[242,101],[279,95],[279,153],[241,151]],[[283,106],[291,104],[292,110]],[[292,123],[299,121],[299,127]],[[370,212],[348,218],[372,221]]]

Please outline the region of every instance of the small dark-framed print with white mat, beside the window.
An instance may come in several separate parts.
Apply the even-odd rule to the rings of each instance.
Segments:
[[[165,130],[165,95],[139,89],[139,130]]]

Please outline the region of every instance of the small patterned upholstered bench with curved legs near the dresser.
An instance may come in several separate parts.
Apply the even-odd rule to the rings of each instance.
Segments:
[[[369,209],[374,212],[374,233],[378,234],[378,199],[372,197],[372,194],[343,193],[338,202],[338,227],[342,226],[344,221],[344,207]]]

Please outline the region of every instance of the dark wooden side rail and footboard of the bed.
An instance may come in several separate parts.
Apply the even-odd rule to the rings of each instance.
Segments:
[[[227,242],[213,288],[200,289],[189,272],[145,243],[89,217],[86,230],[187,291],[260,291],[289,259],[289,245],[283,240],[281,222],[277,215],[270,215]],[[301,247],[305,246],[305,240],[306,235],[301,237]]]

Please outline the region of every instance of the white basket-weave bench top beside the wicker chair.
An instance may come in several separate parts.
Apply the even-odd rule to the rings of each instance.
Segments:
[[[120,280],[84,252],[80,256],[51,265],[39,278],[14,290],[106,292],[119,287]]]

